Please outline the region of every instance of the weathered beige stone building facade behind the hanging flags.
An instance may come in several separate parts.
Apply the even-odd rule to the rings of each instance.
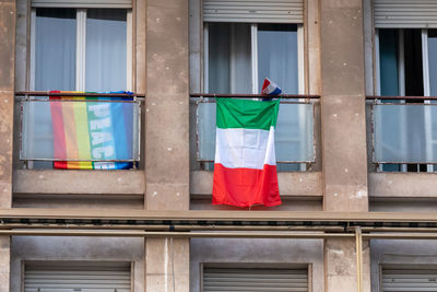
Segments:
[[[437,291],[436,11],[426,0],[2,0],[0,291]],[[283,203],[212,206],[208,94],[253,95],[267,77],[290,97]],[[54,167],[56,102],[29,106],[50,90],[137,93],[125,101],[134,167]]]

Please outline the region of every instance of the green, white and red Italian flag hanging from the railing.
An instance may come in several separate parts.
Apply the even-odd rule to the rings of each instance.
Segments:
[[[213,205],[281,205],[274,128],[280,102],[217,98]]]

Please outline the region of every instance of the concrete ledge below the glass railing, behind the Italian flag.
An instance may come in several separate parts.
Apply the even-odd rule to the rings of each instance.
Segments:
[[[190,192],[194,196],[211,196],[212,172],[191,172]],[[282,197],[321,199],[321,173],[277,173]]]

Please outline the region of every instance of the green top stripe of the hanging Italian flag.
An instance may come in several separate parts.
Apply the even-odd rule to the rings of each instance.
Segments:
[[[280,101],[216,98],[217,128],[270,130],[276,127]]]

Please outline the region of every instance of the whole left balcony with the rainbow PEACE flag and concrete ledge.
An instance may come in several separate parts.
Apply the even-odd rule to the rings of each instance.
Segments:
[[[82,208],[84,198],[120,208],[143,206],[144,173],[134,168],[141,153],[144,95],[16,92],[15,96],[21,109],[15,156],[24,162],[24,170],[14,171],[15,207],[61,206],[62,199],[74,206],[72,200],[78,199]]]

